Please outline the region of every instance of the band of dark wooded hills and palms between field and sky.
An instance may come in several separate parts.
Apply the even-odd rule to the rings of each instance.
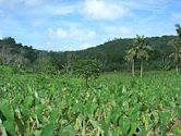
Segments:
[[[171,70],[179,73],[181,58],[181,27],[177,36],[118,38],[81,51],[43,51],[23,46],[7,37],[0,40],[0,64],[28,72],[72,73],[79,60],[96,60],[102,71]]]

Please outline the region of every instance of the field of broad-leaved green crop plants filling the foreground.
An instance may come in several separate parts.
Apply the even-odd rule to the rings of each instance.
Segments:
[[[0,76],[2,136],[181,136],[181,77],[174,72]]]

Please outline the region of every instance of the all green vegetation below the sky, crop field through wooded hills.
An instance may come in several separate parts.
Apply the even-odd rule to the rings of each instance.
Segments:
[[[67,52],[0,40],[0,136],[181,135],[176,32]]]

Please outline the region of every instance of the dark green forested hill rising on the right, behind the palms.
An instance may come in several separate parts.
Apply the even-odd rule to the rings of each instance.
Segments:
[[[154,49],[149,60],[146,62],[149,70],[168,70],[172,62],[168,55],[173,50],[169,42],[174,39],[176,36],[162,36],[146,38],[148,45]],[[125,63],[125,51],[131,47],[133,38],[114,39],[107,41],[100,46],[88,48],[74,52],[79,58],[87,58],[100,60],[106,71],[113,70],[126,70],[130,65]],[[70,52],[67,52],[70,53]],[[73,52],[72,52],[73,53]]]

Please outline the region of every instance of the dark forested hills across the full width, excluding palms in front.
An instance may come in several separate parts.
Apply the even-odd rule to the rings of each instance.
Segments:
[[[176,36],[146,38],[154,51],[146,69],[169,69],[171,61],[168,54],[172,47],[168,44]],[[13,65],[31,71],[55,71],[72,65],[76,59],[97,59],[105,71],[128,70],[130,65],[124,61],[125,51],[133,39],[114,39],[94,48],[81,51],[40,51],[22,44],[16,44],[11,37],[0,40],[0,64]],[[61,49],[60,49],[61,50]],[[138,62],[137,62],[138,63]]]

